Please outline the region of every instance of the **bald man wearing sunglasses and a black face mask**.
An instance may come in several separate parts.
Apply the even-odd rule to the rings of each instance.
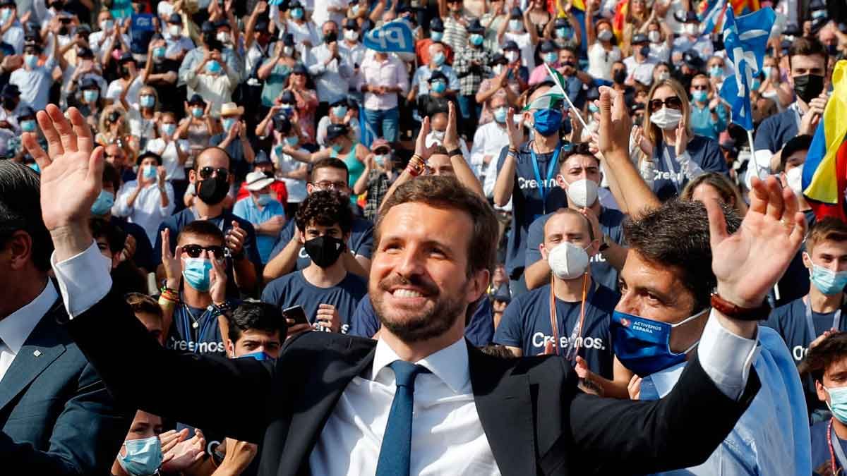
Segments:
[[[231,257],[226,260],[226,295],[237,297],[239,291],[253,293],[257,285],[256,269],[262,264],[256,246],[256,230],[246,219],[224,209],[224,197],[229,193],[233,181],[230,156],[218,147],[204,149],[197,155],[188,180],[194,185],[197,198],[191,207],[171,215],[159,225],[156,244],[153,246],[153,252],[157,254],[154,257],[156,262],[162,263],[162,255],[159,253],[162,252],[163,230],[168,229],[171,236],[176,236],[187,224],[199,219],[208,220],[224,233],[224,246],[230,250]],[[156,276],[158,280],[165,276],[161,265]]]

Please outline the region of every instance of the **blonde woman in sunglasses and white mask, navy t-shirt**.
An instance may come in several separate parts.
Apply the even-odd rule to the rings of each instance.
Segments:
[[[659,200],[678,196],[704,172],[729,174],[717,141],[692,132],[688,93],[677,80],[660,80],[650,89],[644,125],[636,140],[645,154],[639,168]]]

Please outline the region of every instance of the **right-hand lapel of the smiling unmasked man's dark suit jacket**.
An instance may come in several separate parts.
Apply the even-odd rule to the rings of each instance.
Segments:
[[[479,421],[501,474],[536,473],[529,377],[511,374],[500,359],[468,345],[468,365]]]

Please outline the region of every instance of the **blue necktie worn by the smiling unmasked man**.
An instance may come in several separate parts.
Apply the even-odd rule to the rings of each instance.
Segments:
[[[397,391],[391,402],[391,412],[385,425],[376,476],[408,476],[412,452],[412,404],[414,403],[415,377],[429,373],[429,369],[413,363],[396,360],[389,364],[394,370]]]

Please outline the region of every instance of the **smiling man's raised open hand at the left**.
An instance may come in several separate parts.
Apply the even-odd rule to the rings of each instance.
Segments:
[[[26,132],[21,137],[42,169],[42,218],[58,261],[91,246],[88,217],[102,188],[103,148],[94,148],[91,129],[77,108],[69,108],[68,116],[70,122],[53,104],[36,113],[47,152],[38,145],[36,134]]]

